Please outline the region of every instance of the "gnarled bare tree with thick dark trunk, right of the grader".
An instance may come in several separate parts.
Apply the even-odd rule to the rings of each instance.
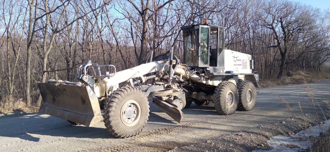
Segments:
[[[298,3],[283,1],[281,3],[268,2],[264,8],[266,15],[262,18],[264,26],[273,31],[275,45],[268,46],[278,48],[281,55],[281,64],[277,78],[283,76],[287,52],[294,35],[304,33],[313,22],[313,16],[302,14]]]

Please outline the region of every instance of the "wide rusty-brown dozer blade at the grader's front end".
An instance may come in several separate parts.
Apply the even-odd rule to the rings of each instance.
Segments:
[[[102,120],[99,101],[89,86],[38,83],[43,102],[39,113],[76,122],[87,127]]]

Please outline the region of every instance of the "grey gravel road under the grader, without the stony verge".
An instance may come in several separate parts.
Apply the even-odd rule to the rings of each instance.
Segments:
[[[330,80],[310,83],[309,87],[322,107],[330,99]],[[314,113],[304,85],[262,88],[252,111],[219,115],[214,106],[192,104],[183,109],[183,120],[177,124],[171,117],[150,104],[150,116],[143,132],[132,138],[117,139],[103,122],[93,127],[72,126],[66,120],[45,114],[0,117],[0,151],[167,151],[182,149],[194,143],[236,134],[247,128],[258,128],[287,120],[290,112],[278,96],[283,97],[293,112]],[[180,148],[181,147],[181,148]]]

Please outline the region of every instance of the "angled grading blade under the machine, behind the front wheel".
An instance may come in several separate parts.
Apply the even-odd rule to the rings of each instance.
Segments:
[[[172,106],[171,104],[162,101],[158,99],[157,97],[153,97],[152,104],[158,108],[160,108],[162,111],[167,113],[170,117],[172,117],[175,121],[178,123],[181,122],[183,117],[183,112],[180,108],[177,108],[175,106]]]

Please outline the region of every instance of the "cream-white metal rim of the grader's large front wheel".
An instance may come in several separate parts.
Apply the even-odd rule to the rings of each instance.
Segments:
[[[120,110],[121,122],[128,127],[136,125],[141,118],[141,105],[138,101],[127,100]]]

